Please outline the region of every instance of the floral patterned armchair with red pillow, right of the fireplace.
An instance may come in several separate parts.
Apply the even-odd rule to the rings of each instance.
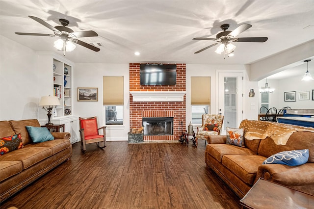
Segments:
[[[202,127],[198,127],[196,133],[196,146],[198,139],[205,140],[206,144],[207,137],[209,135],[219,135],[223,121],[224,121],[223,115],[212,114],[202,115]]]

